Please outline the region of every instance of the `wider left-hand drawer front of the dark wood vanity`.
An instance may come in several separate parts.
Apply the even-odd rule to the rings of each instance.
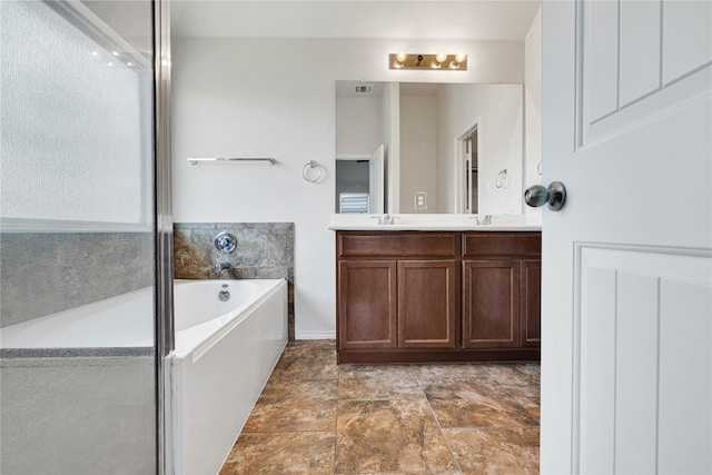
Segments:
[[[458,232],[337,232],[338,257],[456,257]]]

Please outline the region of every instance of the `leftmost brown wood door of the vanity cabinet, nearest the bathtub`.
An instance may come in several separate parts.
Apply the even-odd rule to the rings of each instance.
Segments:
[[[396,261],[338,263],[339,349],[395,348]]]

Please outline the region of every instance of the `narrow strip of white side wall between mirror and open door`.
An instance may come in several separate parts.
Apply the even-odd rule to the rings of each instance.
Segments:
[[[542,9],[532,21],[524,41],[524,187],[542,182],[536,166],[542,160]],[[525,215],[542,208],[524,206]]]

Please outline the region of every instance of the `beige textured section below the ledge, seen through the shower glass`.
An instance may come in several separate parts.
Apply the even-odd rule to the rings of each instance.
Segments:
[[[155,473],[155,372],[150,355],[0,358],[2,473]]]

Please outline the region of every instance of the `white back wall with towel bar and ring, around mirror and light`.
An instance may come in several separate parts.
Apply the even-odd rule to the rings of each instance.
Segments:
[[[387,53],[402,48],[466,49],[471,70],[388,70]],[[297,338],[335,335],[335,238],[327,229],[334,81],[524,80],[524,44],[516,41],[176,38],[172,55],[175,220],[295,222]],[[278,164],[189,166],[189,156],[270,156]],[[301,178],[309,160],[326,169],[319,184]]]

